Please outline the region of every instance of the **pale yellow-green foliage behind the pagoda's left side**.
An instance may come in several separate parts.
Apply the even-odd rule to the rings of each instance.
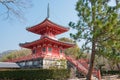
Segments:
[[[0,59],[0,61],[11,60],[11,59],[23,57],[23,56],[26,56],[26,55],[29,55],[29,54],[31,54],[31,50],[29,50],[29,49],[15,50],[15,51],[10,52],[7,55],[4,55]]]

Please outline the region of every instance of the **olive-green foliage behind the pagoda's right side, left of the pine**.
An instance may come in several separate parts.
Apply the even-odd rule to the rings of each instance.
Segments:
[[[59,40],[63,42],[69,42],[69,43],[75,44],[74,47],[64,50],[64,53],[66,55],[72,56],[77,59],[81,57],[86,58],[86,55],[80,50],[79,46],[72,39],[63,37],[63,38],[60,38]]]

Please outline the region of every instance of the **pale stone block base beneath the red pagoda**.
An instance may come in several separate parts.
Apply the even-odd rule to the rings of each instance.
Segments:
[[[67,60],[64,57],[44,56],[43,58],[34,58],[16,62],[21,68],[67,68]]]

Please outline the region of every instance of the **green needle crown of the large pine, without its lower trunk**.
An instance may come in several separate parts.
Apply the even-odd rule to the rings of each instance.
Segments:
[[[76,4],[76,11],[80,19],[77,23],[69,23],[71,28],[77,30],[77,33],[71,33],[71,37],[78,41],[84,39],[86,46],[92,43],[93,36],[96,43],[104,42],[109,37],[119,39],[116,36],[116,33],[120,34],[120,25],[118,25],[120,20],[116,13],[118,8],[109,6],[105,0],[79,0]]]

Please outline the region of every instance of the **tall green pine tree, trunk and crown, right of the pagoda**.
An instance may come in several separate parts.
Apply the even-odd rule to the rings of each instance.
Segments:
[[[91,52],[90,66],[87,80],[91,80],[95,54],[110,54],[112,48],[118,49],[120,45],[120,17],[116,12],[120,4],[108,5],[110,0],[78,0],[76,11],[79,20],[77,23],[70,22],[69,26],[76,33],[70,36],[80,41],[83,39],[84,50]]]

